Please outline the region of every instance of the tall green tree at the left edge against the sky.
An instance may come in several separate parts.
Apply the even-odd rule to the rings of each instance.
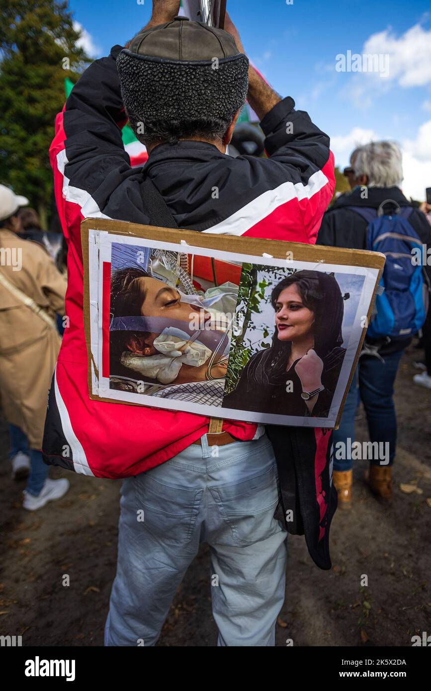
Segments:
[[[89,61],[79,37],[67,2],[0,0],[0,182],[28,197],[44,227],[64,79],[76,81]]]

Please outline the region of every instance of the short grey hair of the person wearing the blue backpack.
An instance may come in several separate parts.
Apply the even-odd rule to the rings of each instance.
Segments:
[[[396,142],[370,142],[358,146],[350,160],[356,178],[367,176],[367,187],[401,187],[403,155]]]

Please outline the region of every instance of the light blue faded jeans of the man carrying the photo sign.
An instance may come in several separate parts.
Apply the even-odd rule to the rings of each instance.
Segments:
[[[211,551],[218,645],[275,645],[287,561],[278,494],[266,435],[211,447],[204,435],[202,446],[125,480],[105,645],[155,645],[200,542]]]

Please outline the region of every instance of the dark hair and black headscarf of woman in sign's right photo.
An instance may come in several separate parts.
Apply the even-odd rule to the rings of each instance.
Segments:
[[[343,343],[344,301],[340,286],[332,274],[307,269],[298,271],[283,278],[272,291],[271,305],[274,310],[280,293],[290,285],[296,285],[303,304],[314,312],[314,350],[323,359]],[[264,352],[260,360],[260,378],[269,383],[270,375],[271,379],[284,376],[290,352],[291,341],[280,341],[276,328],[271,348]]]

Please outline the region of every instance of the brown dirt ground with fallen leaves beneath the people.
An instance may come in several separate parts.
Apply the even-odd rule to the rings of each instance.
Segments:
[[[431,390],[412,384],[417,354],[412,348],[405,354],[396,382],[394,497],[388,504],[373,498],[363,482],[365,462],[356,462],[354,508],[338,510],[332,524],[331,571],[314,565],[303,537],[289,536],[278,646],[287,638],[299,646],[410,646],[414,634],[431,632]],[[364,420],[356,436],[367,439]],[[0,634],[21,634],[23,645],[103,645],[120,482],[51,469],[51,477],[70,480],[68,495],[28,513],[21,508],[23,485],[10,477],[3,419],[0,437]],[[416,484],[418,492],[403,493],[400,483]],[[362,574],[367,587],[361,587]],[[210,591],[209,552],[202,545],[157,645],[215,645]]]

